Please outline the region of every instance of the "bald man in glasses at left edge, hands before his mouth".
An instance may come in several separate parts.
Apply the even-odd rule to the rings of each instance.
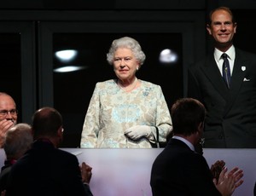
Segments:
[[[3,147],[6,131],[17,123],[17,113],[14,99],[0,92],[0,147]]]

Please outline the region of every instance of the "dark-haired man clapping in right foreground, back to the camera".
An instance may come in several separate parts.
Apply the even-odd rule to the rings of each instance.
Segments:
[[[212,177],[206,159],[195,153],[201,141],[205,107],[192,98],[177,100],[171,110],[173,136],[154,160],[150,185],[154,196],[231,195],[243,182],[242,170],[224,167]]]

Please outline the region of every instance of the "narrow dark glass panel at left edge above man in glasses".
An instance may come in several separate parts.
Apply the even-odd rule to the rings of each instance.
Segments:
[[[21,107],[21,64],[20,33],[0,33],[0,91],[11,95],[20,111]],[[22,122],[21,115],[18,118]]]

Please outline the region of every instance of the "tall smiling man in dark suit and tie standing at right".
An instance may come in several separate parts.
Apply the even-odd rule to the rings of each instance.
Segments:
[[[254,148],[256,55],[234,47],[237,25],[230,9],[214,9],[209,19],[207,32],[213,37],[214,51],[189,67],[188,79],[188,96],[207,108],[204,147]]]

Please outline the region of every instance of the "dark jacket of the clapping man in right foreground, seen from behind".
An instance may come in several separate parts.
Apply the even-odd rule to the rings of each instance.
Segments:
[[[171,139],[154,160],[150,185],[154,196],[221,195],[206,159],[177,139]]]

